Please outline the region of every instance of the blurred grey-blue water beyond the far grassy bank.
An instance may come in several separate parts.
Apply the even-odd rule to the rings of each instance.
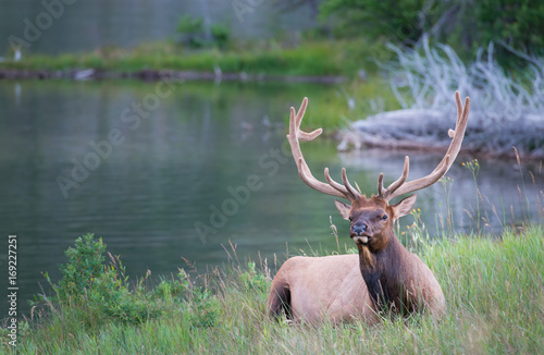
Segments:
[[[46,1],[64,2],[71,1]],[[129,48],[143,41],[166,40],[175,38],[177,22],[186,14],[202,17],[208,27],[223,24],[231,29],[232,37],[238,39],[268,38],[316,24],[307,4],[284,11],[286,9],[269,1],[260,4],[255,1],[256,5],[245,10],[236,10],[233,0],[72,2],[48,11],[41,1],[0,0],[0,57],[8,56],[10,36],[25,40],[25,51],[49,54],[92,51],[103,46]]]

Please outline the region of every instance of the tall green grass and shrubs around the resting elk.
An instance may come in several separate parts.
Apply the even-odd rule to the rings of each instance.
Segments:
[[[505,232],[498,240],[465,235],[424,246],[419,254],[444,290],[447,316],[441,322],[425,316],[385,318],[375,327],[355,321],[313,328],[269,320],[264,304],[270,279],[251,264],[201,276],[202,289],[193,285],[185,272],[146,286],[145,279],[125,284],[119,260],[108,257],[106,262],[102,257],[100,264],[110,266],[98,268],[100,274],[89,279],[91,284],[79,294],[82,285],[73,281],[85,277],[71,278],[91,265],[79,269],[70,265],[97,254],[79,258],[83,254],[74,252],[63,267],[63,281],[55,285],[57,295],[20,325],[17,350],[21,354],[542,353],[543,234],[542,227],[528,227]],[[72,250],[81,250],[81,245]],[[5,339],[2,347],[9,351]]]

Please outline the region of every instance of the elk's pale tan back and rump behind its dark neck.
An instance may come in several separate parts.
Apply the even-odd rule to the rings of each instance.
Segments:
[[[355,254],[288,259],[272,281],[267,307],[271,317],[285,313],[287,319],[310,323],[378,321]]]

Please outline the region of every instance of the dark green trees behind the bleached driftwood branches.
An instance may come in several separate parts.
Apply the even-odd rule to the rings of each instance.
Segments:
[[[544,2],[536,0],[326,0],[321,16],[335,23],[337,35],[372,42],[410,46],[428,33],[462,57],[473,57],[490,41],[544,54]],[[515,59],[505,47],[495,54],[502,63]]]

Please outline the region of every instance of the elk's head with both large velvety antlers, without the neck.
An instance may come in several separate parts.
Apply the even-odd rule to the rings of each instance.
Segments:
[[[287,135],[287,139],[295,162],[297,163],[298,173],[308,186],[321,193],[347,199],[350,203],[347,205],[339,200],[335,201],[342,217],[349,220],[351,223],[350,237],[356,242],[359,252],[364,252],[369,255],[368,253],[378,253],[384,249],[388,245],[391,238],[395,237],[393,232],[394,221],[411,210],[416,203],[417,195],[413,194],[397,204],[390,205],[393,198],[434,184],[444,176],[452,167],[461,148],[470,109],[470,99],[468,97],[465,101],[465,108],[462,107],[459,91],[455,93],[455,99],[457,103],[457,122],[455,131],[448,131],[452,143],[438,166],[429,175],[406,182],[410,167],[410,161],[407,156],[400,178],[385,188],[383,186],[383,173],[380,174],[378,179],[378,195],[372,195],[370,198],[367,198],[366,195],[362,195],[358,189],[351,186],[347,180],[346,169],[344,168],[342,169],[343,184],[331,179],[327,168],[325,168],[324,171],[327,183],[320,182],[313,178],[304,159],[299,140],[312,140],[322,133],[322,130],[319,128],[311,133],[300,131],[300,122],[302,121],[308,105],[307,98],[302,100],[302,105],[298,112],[295,112],[295,109],[290,108],[289,134]],[[370,258],[369,262],[371,261],[372,259]]]

